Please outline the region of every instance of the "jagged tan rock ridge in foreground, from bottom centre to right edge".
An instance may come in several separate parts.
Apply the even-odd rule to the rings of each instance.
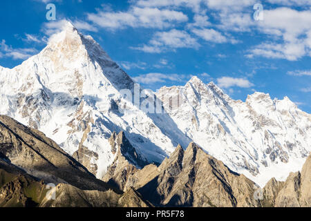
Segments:
[[[160,166],[137,169],[120,159],[116,157],[106,174],[111,184],[123,191],[136,189],[155,206],[308,206],[311,202],[310,157],[301,173],[291,173],[286,182],[272,179],[264,189],[194,143],[186,150],[176,147]],[[263,200],[255,197],[258,193]]]

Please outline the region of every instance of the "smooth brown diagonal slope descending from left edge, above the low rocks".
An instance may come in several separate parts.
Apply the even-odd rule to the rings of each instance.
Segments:
[[[86,190],[111,189],[43,133],[4,115],[0,115],[0,153],[11,164],[46,182]]]

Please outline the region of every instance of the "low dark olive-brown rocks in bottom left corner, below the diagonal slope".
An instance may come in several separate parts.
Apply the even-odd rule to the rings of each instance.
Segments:
[[[0,159],[0,207],[148,207],[135,190],[82,190],[70,184],[50,186]]]

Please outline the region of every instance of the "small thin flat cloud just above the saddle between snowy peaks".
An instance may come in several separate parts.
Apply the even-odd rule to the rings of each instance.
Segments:
[[[185,75],[177,74],[162,74],[162,73],[148,73],[145,75],[139,75],[138,77],[132,77],[134,81],[142,84],[156,84],[169,81],[182,81]]]

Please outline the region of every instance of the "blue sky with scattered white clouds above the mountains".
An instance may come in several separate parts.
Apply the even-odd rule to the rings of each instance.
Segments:
[[[56,20],[46,19],[54,3]],[[254,19],[254,5],[263,20]],[[17,0],[0,3],[0,66],[46,46],[64,19],[93,38],[145,88],[193,75],[234,99],[288,96],[311,113],[310,0]]]

